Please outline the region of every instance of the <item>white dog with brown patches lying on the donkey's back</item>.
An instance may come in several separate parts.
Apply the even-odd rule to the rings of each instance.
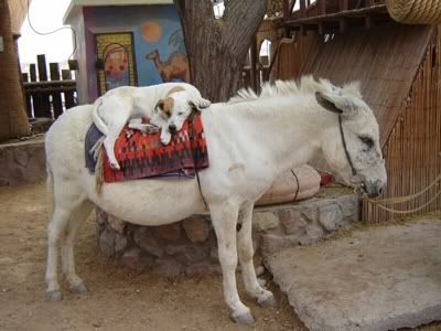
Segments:
[[[168,145],[171,134],[181,130],[194,108],[202,109],[211,102],[202,98],[196,87],[186,83],[165,83],[147,87],[123,86],[109,90],[95,102],[93,120],[106,136],[110,167],[120,169],[115,157],[115,141],[125,125],[142,131],[161,128],[161,142]],[[142,118],[150,125],[142,124]]]

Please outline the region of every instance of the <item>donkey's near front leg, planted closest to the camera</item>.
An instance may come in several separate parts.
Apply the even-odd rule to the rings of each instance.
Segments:
[[[237,293],[236,285],[236,224],[238,206],[230,203],[211,205],[209,212],[212,222],[217,236],[219,261],[222,266],[224,297],[232,309],[233,319],[241,324],[252,324],[255,322],[248,307],[246,307]]]

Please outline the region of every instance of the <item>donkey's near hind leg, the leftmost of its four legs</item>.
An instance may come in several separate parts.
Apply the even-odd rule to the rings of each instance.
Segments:
[[[68,186],[68,183],[54,185],[54,210],[47,226],[47,265],[45,275],[46,297],[50,300],[62,299],[57,277],[58,245],[65,239],[72,213],[84,202],[84,199],[74,193],[75,190],[65,189]]]

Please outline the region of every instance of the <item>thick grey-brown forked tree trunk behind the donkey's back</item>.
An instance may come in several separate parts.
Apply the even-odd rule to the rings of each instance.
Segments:
[[[174,3],[184,33],[192,84],[212,102],[226,102],[239,87],[267,1],[225,1],[224,17],[217,20],[211,0],[174,0]]]

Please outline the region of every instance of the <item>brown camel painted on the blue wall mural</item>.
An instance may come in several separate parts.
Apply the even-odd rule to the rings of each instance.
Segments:
[[[161,61],[159,51],[154,50],[153,52],[146,54],[146,58],[153,61],[163,83],[173,79],[181,79],[190,83],[190,68],[186,54],[173,52],[170,54],[169,60]]]

